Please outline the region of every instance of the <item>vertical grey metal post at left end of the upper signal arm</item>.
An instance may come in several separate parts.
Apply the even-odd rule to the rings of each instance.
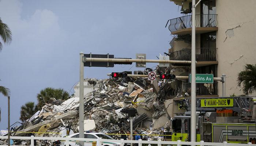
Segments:
[[[80,52],[80,80],[79,80],[79,138],[84,138],[84,99],[83,99],[83,88],[84,88],[84,74],[83,74],[83,52]],[[80,146],[84,146],[83,141],[79,141]]]

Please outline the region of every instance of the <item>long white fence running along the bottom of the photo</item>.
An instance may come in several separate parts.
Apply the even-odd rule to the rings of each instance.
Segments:
[[[7,136],[0,136],[0,139],[8,139]],[[180,140],[178,141],[142,141],[141,139],[139,139],[138,141],[131,141],[131,140],[114,140],[114,139],[102,139],[102,138],[98,138],[98,139],[92,139],[92,138],[69,138],[69,137],[10,137],[10,139],[20,139],[20,140],[25,140],[25,139],[30,139],[31,142],[31,146],[34,146],[34,139],[36,140],[50,140],[50,141],[65,141],[65,145],[69,146],[69,141],[96,141],[97,142],[97,146],[101,146],[102,142],[113,142],[113,143],[120,143],[120,146],[124,146],[124,143],[138,143],[138,146],[142,146],[143,143],[146,144],[157,144],[157,146],[161,146],[161,145],[177,145],[177,146],[181,146],[181,145],[199,145],[199,146],[256,146],[256,144],[252,144],[251,142],[247,143],[247,144],[237,144],[237,143],[227,143],[227,142],[223,142],[223,143],[215,143],[215,142],[204,142],[204,141],[200,141],[200,142],[181,142]],[[0,146],[7,146],[7,145],[0,145]],[[18,145],[16,145],[18,146]]]

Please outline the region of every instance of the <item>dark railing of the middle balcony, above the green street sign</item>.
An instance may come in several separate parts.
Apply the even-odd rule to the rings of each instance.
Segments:
[[[218,48],[197,48],[196,61],[217,61]],[[170,54],[170,60],[191,61],[191,49],[183,49]]]

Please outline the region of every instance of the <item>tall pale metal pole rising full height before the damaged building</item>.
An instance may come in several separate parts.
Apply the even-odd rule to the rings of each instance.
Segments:
[[[195,3],[192,0],[192,42],[191,42],[191,142],[196,141],[196,26]]]

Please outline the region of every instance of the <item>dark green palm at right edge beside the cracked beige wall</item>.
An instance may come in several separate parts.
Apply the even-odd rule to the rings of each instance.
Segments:
[[[241,87],[245,95],[256,91],[256,64],[246,64],[244,70],[238,73],[238,86]]]

